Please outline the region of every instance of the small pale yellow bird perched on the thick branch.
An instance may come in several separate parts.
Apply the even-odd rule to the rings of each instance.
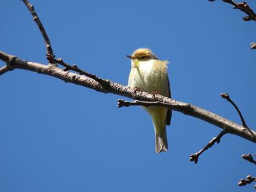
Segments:
[[[148,48],[139,48],[132,55],[128,86],[148,93],[171,97],[167,74],[169,61],[162,61]],[[166,152],[168,148],[166,126],[170,126],[172,111],[166,107],[143,107],[152,118],[155,132],[155,150]]]

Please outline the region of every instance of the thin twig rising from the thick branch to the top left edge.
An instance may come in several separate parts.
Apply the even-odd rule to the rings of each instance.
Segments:
[[[29,12],[33,17],[34,22],[37,23],[37,26],[42,34],[42,37],[45,40],[45,45],[47,50],[47,53],[46,53],[47,60],[50,62],[50,64],[53,64],[52,60],[55,56],[53,55],[53,49],[50,45],[50,39],[48,37],[48,34],[46,33],[44,26],[42,26],[42,23],[37,15],[37,12],[34,10],[34,6],[29,3],[29,0],[23,0],[23,3],[26,4],[26,7],[29,9]]]

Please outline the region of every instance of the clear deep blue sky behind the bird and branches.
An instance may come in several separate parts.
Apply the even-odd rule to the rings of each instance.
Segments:
[[[173,98],[241,123],[219,93],[230,93],[256,128],[255,22],[222,1],[31,1],[56,58],[127,85],[138,47],[170,61]],[[256,9],[255,1],[248,1]],[[0,2],[0,50],[47,64],[45,45],[22,1]],[[0,62],[0,66],[4,63]],[[241,158],[255,144],[226,135],[189,155],[220,128],[173,112],[169,150],[154,152],[140,107],[118,109],[113,94],[15,70],[0,77],[0,191],[253,191],[237,186],[256,167]]]

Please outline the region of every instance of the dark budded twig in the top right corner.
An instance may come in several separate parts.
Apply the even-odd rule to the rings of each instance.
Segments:
[[[215,0],[209,0],[209,1],[215,1]],[[243,18],[245,21],[254,20],[256,21],[256,14],[255,12],[249,7],[246,2],[243,3],[236,3],[233,0],[222,0],[225,3],[232,4],[234,7],[233,9],[240,9],[242,12],[244,12],[247,16]]]

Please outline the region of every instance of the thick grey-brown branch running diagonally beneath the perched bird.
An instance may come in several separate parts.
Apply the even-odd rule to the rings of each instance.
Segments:
[[[142,91],[134,91],[134,89],[132,88],[120,85],[117,82],[112,82],[110,80],[105,80],[108,81],[108,86],[102,86],[99,82],[92,80],[89,77],[73,72],[65,72],[58,66],[45,66],[43,64],[24,61],[1,51],[0,59],[5,63],[8,63],[12,69],[25,69],[31,72],[37,72],[39,74],[47,74],[60,80],[64,80],[64,82],[72,82],[76,85],[91,88],[95,91],[99,91],[102,93],[113,93],[140,101],[160,101],[164,104],[165,107],[170,107],[172,110],[183,112],[185,115],[190,115],[195,118],[200,118],[201,120],[211,123],[214,126],[225,129],[227,133],[236,134],[239,137],[243,137],[244,139],[247,139],[249,141],[256,142],[256,132],[252,129],[244,128],[237,123],[222,118],[221,116],[213,112],[209,112],[199,107],[195,107],[192,104],[176,101],[174,99],[170,99],[159,94],[152,95]]]

